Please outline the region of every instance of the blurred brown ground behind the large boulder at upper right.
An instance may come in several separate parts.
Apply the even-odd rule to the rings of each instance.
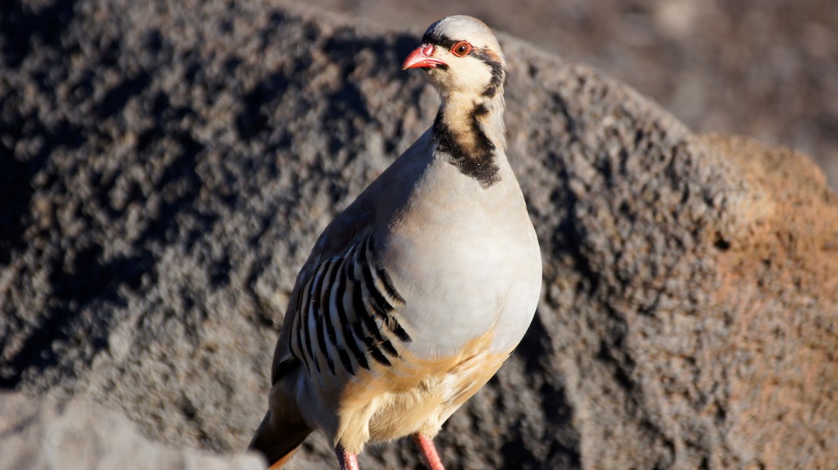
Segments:
[[[791,146],[838,187],[838,2],[834,0],[297,0],[420,31],[483,18],[591,64],[700,131]]]

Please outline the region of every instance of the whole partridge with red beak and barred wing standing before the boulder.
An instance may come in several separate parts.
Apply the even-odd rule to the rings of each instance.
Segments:
[[[433,437],[535,315],[541,250],[505,153],[497,38],[477,18],[442,18],[402,69],[422,70],[441,104],[297,274],[250,445],[272,468],[319,430],[342,470],[402,437],[443,470]]]

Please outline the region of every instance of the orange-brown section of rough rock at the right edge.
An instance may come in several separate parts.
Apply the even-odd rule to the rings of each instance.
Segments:
[[[749,183],[719,259],[731,447],[744,467],[830,468],[838,440],[838,196],[809,157],[711,136]],[[739,446],[737,446],[739,447]],[[747,449],[747,452],[742,452]],[[789,452],[793,449],[793,452]]]

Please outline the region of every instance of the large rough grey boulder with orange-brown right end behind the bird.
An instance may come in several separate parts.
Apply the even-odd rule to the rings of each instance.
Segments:
[[[4,6],[0,385],[244,448],[297,268],[432,122],[437,97],[399,66],[426,26],[257,0]],[[838,199],[820,171],[501,42],[544,299],[443,460],[830,468]],[[314,437],[294,467],[331,459]],[[419,467],[409,442],[361,462]]]

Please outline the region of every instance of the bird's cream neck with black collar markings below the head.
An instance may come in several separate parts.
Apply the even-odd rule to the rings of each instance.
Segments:
[[[484,187],[500,181],[498,161],[505,158],[504,94],[499,91],[490,98],[443,95],[433,122],[437,151]]]

